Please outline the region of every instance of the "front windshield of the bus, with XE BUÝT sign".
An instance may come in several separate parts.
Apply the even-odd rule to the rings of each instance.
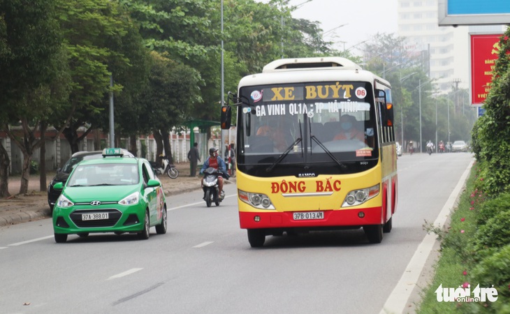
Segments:
[[[241,87],[240,98],[238,163],[248,172],[257,165],[272,172],[292,165],[345,167],[379,158],[368,82]]]

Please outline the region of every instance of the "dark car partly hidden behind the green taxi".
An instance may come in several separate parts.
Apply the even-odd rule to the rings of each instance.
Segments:
[[[124,157],[135,157],[127,149],[121,150]],[[48,205],[50,206],[50,212],[53,211],[55,202],[57,202],[57,198],[60,196],[60,190],[55,190],[53,186],[59,182],[65,184],[69,174],[71,174],[71,171],[73,171],[74,167],[76,167],[80,161],[96,158],[103,158],[103,151],[78,151],[74,153],[61,168],[57,169],[57,174],[55,174],[55,177],[53,177],[50,184],[48,184]]]

